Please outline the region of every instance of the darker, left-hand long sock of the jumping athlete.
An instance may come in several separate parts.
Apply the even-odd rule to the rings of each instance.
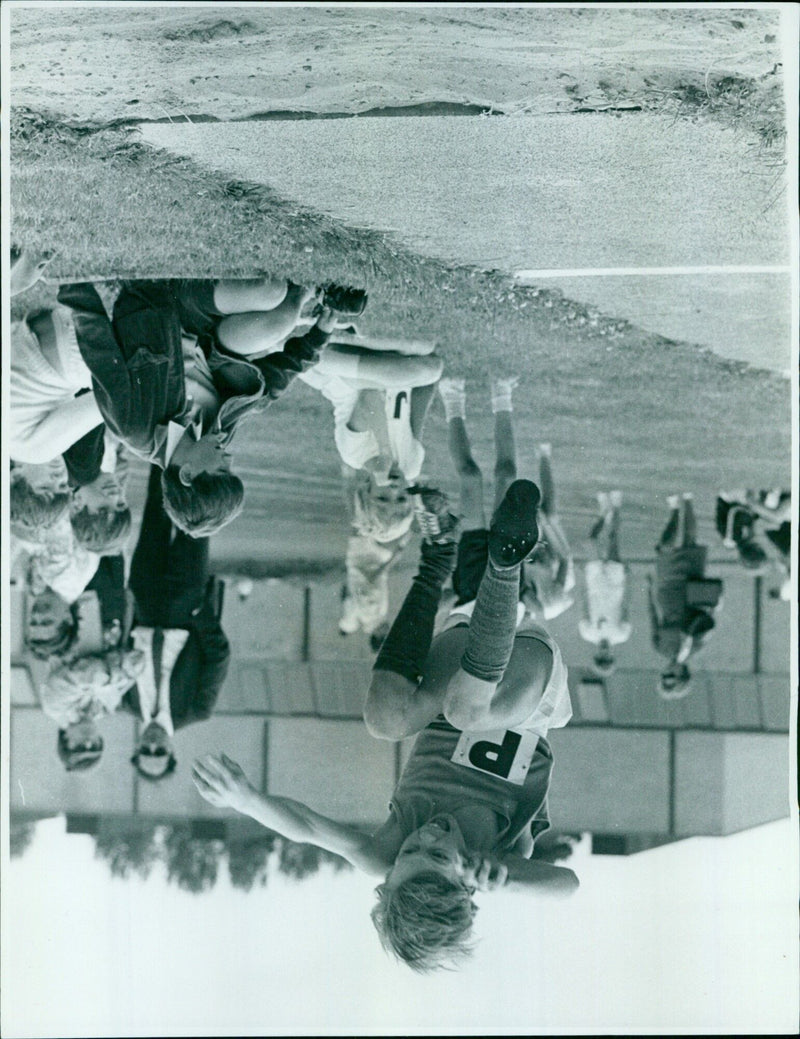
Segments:
[[[455,565],[456,544],[423,542],[417,571],[400,612],[383,639],[374,671],[394,671],[419,685],[433,640],[442,587]]]

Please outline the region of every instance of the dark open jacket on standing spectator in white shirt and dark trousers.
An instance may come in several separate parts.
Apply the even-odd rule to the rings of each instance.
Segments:
[[[212,578],[198,608],[189,638],[169,678],[169,710],[176,729],[211,717],[231,664],[231,646],[222,631],[223,584]],[[135,624],[134,624],[135,627]],[[136,686],[123,697],[121,709],[141,717]]]

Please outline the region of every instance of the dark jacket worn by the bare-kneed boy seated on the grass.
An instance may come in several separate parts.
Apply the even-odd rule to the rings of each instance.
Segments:
[[[187,414],[177,283],[127,283],[114,303],[113,325],[90,284],[61,286],[58,300],[74,312],[106,425],[140,458],[163,469],[166,425]],[[282,351],[250,362],[222,353],[213,337],[203,337],[222,400],[215,424],[225,443],[245,415],[267,407],[295,375],[316,364],[328,338],[314,326],[288,340]]]

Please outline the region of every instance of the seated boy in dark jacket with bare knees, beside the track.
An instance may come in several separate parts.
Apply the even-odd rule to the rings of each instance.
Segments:
[[[216,533],[242,509],[228,451],[239,423],[315,365],[339,317],[367,300],[328,286],[316,324],[286,339],[313,295],[285,278],[126,282],[111,325],[95,286],[61,286],[106,425],[162,470],[164,508],[191,537]]]

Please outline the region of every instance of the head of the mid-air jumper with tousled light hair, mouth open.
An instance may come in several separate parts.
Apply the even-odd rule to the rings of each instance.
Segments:
[[[474,856],[452,816],[410,833],[376,888],[372,921],[383,948],[412,970],[453,966],[472,951]]]

